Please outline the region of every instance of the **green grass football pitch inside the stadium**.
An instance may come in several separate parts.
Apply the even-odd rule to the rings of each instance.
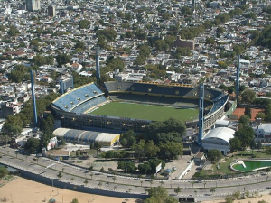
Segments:
[[[91,115],[109,115],[117,117],[135,118],[152,121],[164,121],[170,117],[189,121],[197,118],[198,109],[180,109],[172,106],[154,106],[144,104],[131,104],[111,102],[100,106]]]

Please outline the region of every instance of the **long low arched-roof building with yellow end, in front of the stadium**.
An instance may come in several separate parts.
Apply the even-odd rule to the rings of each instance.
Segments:
[[[94,131],[73,130],[69,128],[58,128],[53,134],[63,138],[67,143],[99,143],[103,147],[113,146],[119,140],[119,134],[108,134]]]

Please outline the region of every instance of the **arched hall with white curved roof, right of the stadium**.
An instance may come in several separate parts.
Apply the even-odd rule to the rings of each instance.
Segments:
[[[202,147],[205,150],[220,150],[226,155],[230,150],[229,140],[234,137],[235,131],[229,127],[218,127],[212,129],[202,139]]]

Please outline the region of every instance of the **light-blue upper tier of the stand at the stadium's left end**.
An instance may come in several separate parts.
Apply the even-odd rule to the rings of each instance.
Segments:
[[[79,88],[75,88],[65,93],[52,102],[52,106],[70,112],[73,108],[85,103],[93,97],[98,97],[104,93],[94,84],[88,84]]]

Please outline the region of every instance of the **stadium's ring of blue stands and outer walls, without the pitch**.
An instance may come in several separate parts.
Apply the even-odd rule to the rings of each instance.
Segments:
[[[93,109],[110,101],[128,101],[179,108],[199,107],[199,88],[172,84],[145,82],[106,82],[101,91],[94,83],[75,88],[51,103],[55,114],[61,119],[61,127],[122,132],[129,129],[144,132],[145,125],[152,121],[107,115],[91,115]],[[107,96],[107,97],[106,97]],[[204,130],[215,125],[225,114],[228,95],[212,88],[204,90]],[[186,122],[187,127],[196,127],[198,119]]]

